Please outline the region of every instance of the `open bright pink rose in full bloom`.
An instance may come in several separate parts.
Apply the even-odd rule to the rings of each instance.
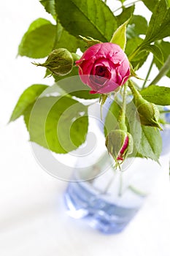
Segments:
[[[76,61],[82,83],[91,94],[107,94],[122,86],[130,75],[127,56],[119,45],[104,42],[91,46]]]

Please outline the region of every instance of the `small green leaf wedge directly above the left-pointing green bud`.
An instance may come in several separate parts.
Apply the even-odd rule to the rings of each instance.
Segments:
[[[70,52],[75,53],[77,48],[85,49],[85,42],[69,34],[58,22],[54,48],[66,48]]]

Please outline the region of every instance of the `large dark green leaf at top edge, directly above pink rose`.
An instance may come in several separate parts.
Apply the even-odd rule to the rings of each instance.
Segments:
[[[55,0],[55,5],[61,25],[74,36],[109,42],[117,29],[115,16],[101,0]]]

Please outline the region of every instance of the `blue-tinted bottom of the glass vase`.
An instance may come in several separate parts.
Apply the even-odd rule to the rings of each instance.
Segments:
[[[93,195],[83,182],[70,183],[64,194],[66,210],[70,217],[83,219],[90,227],[104,234],[124,230],[139,208],[125,208]]]

